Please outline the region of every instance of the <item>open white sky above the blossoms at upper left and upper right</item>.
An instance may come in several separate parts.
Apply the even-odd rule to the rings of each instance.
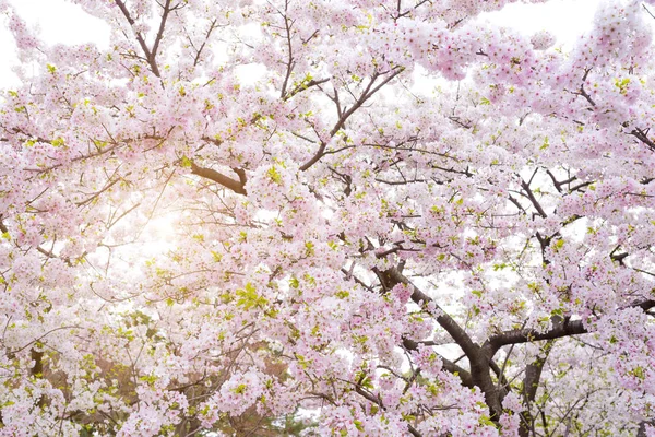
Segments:
[[[486,14],[495,24],[516,28],[525,35],[549,31],[558,44],[570,47],[575,38],[591,27],[600,0],[552,0],[543,4],[510,4],[502,11]],[[94,42],[99,47],[109,44],[105,23],[66,0],[10,0],[10,3],[31,25],[40,28],[45,40],[61,44]],[[11,72],[19,61],[13,39],[3,25],[0,27],[0,88],[17,83]]]

